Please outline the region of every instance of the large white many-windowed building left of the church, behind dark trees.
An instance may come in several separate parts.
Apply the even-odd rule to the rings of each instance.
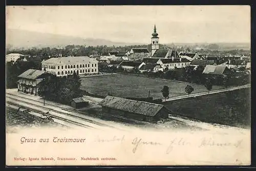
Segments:
[[[56,76],[67,76],[74,72],[78,75],[97,74],[98,60],[88,56],[58,57],[44,60],[42,71],[50,72]]]

